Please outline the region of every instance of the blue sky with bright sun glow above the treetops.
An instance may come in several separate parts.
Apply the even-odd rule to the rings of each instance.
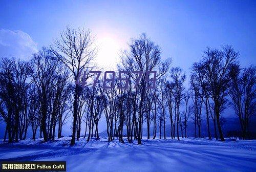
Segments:
[[[0,57],[28,59],[67,24],[96,35],[103,63],[143,32],[188,75],[207,46],[233,45],[243,67],[256,61],[256,1],[0,1]]]

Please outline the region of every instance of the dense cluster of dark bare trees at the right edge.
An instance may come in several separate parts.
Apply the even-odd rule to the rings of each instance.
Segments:
[[[208,48],[203,59],[192,67],[190,85],[194,102],[195,137],[201,137],[202,104],[205,107],[208,137],[211,139],[210,122],[214,123],[215,138],[222,141],[221,114],[231,104],[239,117],[242,137],[249,138],[249,120],[255,115],[255,67],[240,69],[239,53],[231,46],[222,50]],[[242,72],[241,72],[242,71]]]

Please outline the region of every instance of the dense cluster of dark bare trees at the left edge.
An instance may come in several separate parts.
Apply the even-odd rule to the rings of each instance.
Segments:
[[[8,142],[26,139],[28,127],[32,138],[45,141],[58,137],[68,117],[66,101],[70,94],[68,73],[58,64],[50,51],[42,49],[31,61],[3,58],[0,66],[1,117],[6,123]]]

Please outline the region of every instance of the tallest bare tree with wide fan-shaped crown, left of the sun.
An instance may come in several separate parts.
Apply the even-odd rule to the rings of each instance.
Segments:
[[[72,73],[73,79],[77,80],[80,71],[90,71],[95,56],[93,47],[94,37],[89,30],[74,30],[67,26],[67,29],[60,34],[60,39],[55,41],[51,47],[55,58],[61,61]],[[71,145],[75,144],[76,124],[78,118],[78,99],[81,85],[75,85],[74,106],[73,106],[73,132]]]

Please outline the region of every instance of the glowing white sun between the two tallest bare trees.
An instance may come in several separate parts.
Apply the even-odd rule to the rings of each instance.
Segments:
[[[98,38],[97,63],[104,70],[116,68],[118,53],[121,49],[118,40],[112,36],[102,36]]]

